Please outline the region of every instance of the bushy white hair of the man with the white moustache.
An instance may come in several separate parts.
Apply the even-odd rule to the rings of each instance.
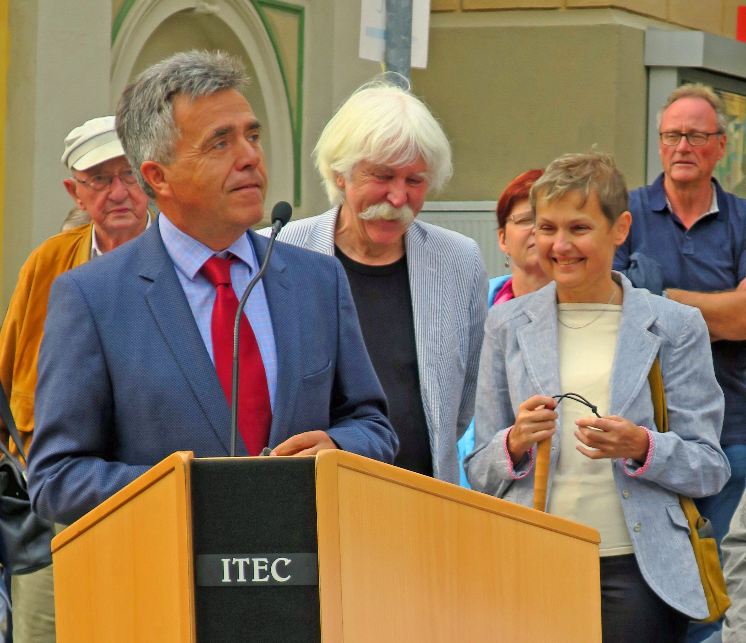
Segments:
[[[439,122],[419,98],[387,75],[364,84],[339,107],[313,155],[333,205],[345,200],[337,175],[349,179],[360,161],[407,165],[422,157],[430,188],[436,191],[453,172],[451,145]]]

